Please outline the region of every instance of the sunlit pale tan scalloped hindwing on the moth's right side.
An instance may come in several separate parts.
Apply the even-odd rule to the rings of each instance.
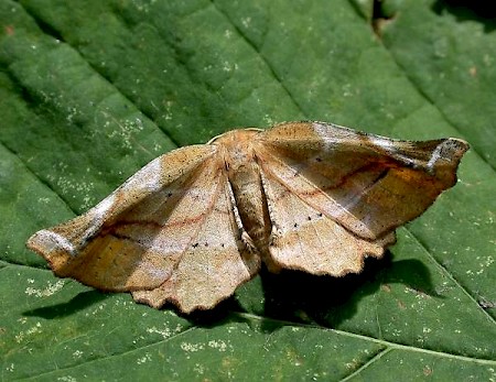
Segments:
[[[342,276],[358,273],[365,257],[379,258],[395,234],[368,241],[312,207],[272,172],[262,166],[263,189],[272,220],[269,252],[272,271],[292,269]]]

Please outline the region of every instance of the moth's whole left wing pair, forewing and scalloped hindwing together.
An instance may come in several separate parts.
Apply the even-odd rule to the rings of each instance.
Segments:
[[[223,166],[209,145],[163,155],[85,215],[36,232],[28,247],[62,277],[105,291],[155,290],[173,279],[182,283],[175,294],[163,293],[160,302],[153,291],[136,298],[153,306],[171,299],[184,312],[212,307],[249,280],[259,261],[246,259]],[[187,301],[181,294],[184,262],[204,277],[203,284],[188,284]]]

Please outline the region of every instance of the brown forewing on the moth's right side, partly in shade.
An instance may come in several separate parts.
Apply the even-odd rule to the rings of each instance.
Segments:
[[[322,122],[260,134],[260,162],[309,206],[356,236],[377,240],[422,214],[456,182],[467,144],[397,141]]]

